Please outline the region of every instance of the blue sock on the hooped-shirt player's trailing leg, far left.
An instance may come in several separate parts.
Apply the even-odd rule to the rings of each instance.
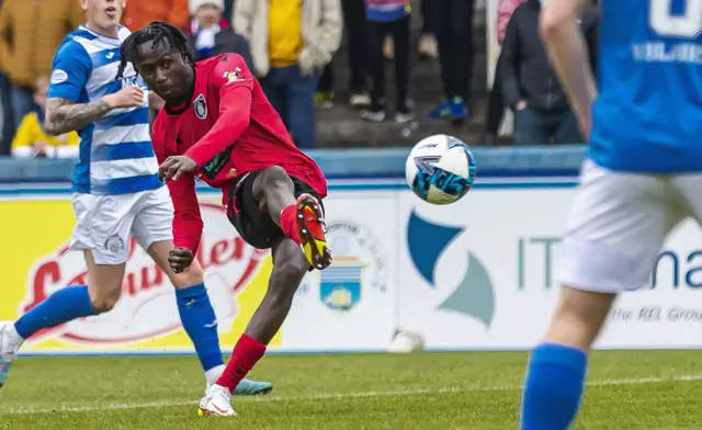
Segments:
[[[67,286],[46,297],[14,324],[23,339],[45,328],[56,327],[76,318],[95,315],[87,285]]]

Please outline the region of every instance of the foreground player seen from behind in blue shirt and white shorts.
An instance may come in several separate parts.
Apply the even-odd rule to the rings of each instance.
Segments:
[[[648,284],[680,222],[702,220],[702,0],[603,0],[599,94],[577,24],[591,0],[544,3],[542,33],[590,147],[555,274],[561,297],[526,372],[522,430],[571,426],[614,298]]]

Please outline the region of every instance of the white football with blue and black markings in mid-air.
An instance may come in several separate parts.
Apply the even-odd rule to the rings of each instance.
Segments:
[[[446,135],[419,142],[405,165],[407,184],[431,204],[458,201],[473,186],[475,172],[475,158],[468,145]]]

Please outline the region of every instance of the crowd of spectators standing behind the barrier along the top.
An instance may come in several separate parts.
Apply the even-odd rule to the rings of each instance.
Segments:
[[[541,0],[498,0],[502,55],[488,109],[489,143],[507,108],[516,112],[516,143],[581,142],[567,99],[537,31]],[[411,49],[437,59],[443,94],[429,117],[462,124],[468,117],[474,63],[475,0],[149,0],[129,1],[122,22],[137,31],[152,21],[182,29],[197,60],[238,53],[258,76],[295,143],[314,148],[315,110],[331,106],[337,90],[362,118],[415,120],[409,98]],[[410,43],[410,19],[421,35]],[[512,16],[510,19],[510,16]],[[584,16],[591,53],[597,10]],[[83,23],[78,0],[0,0],[0,155],[75,157],[75,133],[43,128],[52,59],[67,33]],[[508,24],[509,23],[509,24]],[[346,30],[349,82],[335,79],[333,60]],[[597,64],[592,54],[592,64]],[[385,67],[394,63],[394,100],[386,100]],[[496,125],[497,124],[497,125]]]

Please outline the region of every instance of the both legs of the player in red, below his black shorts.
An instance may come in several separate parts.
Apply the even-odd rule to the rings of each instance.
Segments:
[[[294,184],[281,168],[259,173],[252,190],[261,212],[269,214],[287,238],[272,248],[273,271],[268,292],[237,342],[224,374],[200,403],[201,416],[236,415],[229,393],[265,353],[268,343],[287,317],[295,292],[310,267],[324,269],[331,263],[319,202],[308,194],[295,200]]]

